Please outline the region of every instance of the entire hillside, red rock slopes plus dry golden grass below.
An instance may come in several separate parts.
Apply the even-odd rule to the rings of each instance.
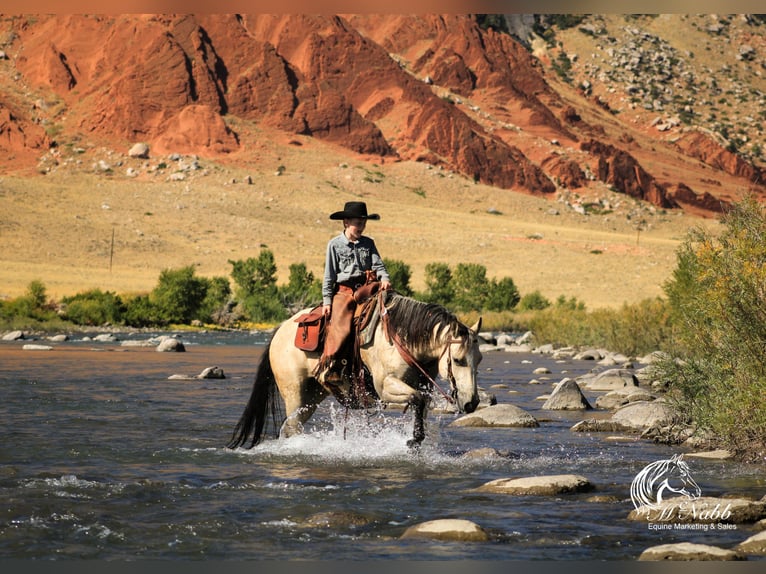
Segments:
[[[263,247],[280,281],[321,276],[329,213],[363,199],[415,289],[428,263],[478,263],[522,295],[615,307],[662,294],[719,200],[766,195],[760,19],[589,15],[528,52],[467,15],[123,16],[0,19],[0,297],[228,277]],[[120,34],[143,38],[129,66]],[[350,151],[371,141],[396,153]],[[499,175],[516,183],[476,183]],[[660,188],[683,209],[637,199]]]

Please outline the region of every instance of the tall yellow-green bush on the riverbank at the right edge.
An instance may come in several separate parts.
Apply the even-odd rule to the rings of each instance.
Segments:
[[[665,284],[682,361],[660,368],[698,427],[746,457],[766,456],[766,207],[753,197],[720,237],[689,232]]]

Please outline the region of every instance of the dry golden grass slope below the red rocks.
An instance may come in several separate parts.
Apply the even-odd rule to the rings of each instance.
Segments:
[[[139,160],[93,147],[45,177],[1,177],[2,295],[22,294],[33,279],[54,298],[96,287],[148,291],[163,269],[185,265],[229,276],[229,260],[264,246],[280,281],[296,262],[321,275],[325,244],[339,230],[329,213],[362,199],[382,217],[368,234],[385,258],[410,265],[416,289],[429,262],[479,263],[489,277],[512,277],[522,295],[618,306],[660,295],[686,229],[717,225],[608,191],[583,215],[562,194],[498,190],[423,163],[381,164],[312,138],[239,127],[245,167],[243,158]]]

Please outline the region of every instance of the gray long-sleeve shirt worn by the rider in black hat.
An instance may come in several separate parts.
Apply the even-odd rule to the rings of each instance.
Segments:
[[[327,257],[324,265],[322,282],[322,302],[332,304],[335,286],[352,277],[363,277],[365,271],[372,270],[381,281],[389,281],[388,271],[375,247],[375,242],[363,235],[353,242],[340,233],[327,243]]]

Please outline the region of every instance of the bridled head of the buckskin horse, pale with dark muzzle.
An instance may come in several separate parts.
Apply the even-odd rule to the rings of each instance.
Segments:
[[[472,326],[459,324],[458,333],[446,344],[446,352],[439,360],[439,374],[450,383],[450,395],[458,411],[472,413],[479,405],[476,384],[477,369],[481,362],[479,351],[481,318]]]

